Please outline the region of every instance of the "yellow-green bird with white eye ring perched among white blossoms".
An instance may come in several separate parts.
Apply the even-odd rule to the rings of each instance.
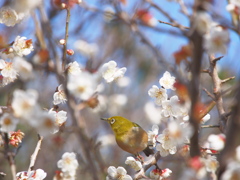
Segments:
[[[148,147],[148,134],[138,124],[121,116],[101,119],[110,124],[118,146],[124,151],[136,156],[141,151],[147,156],[153,154],[153,150]]]

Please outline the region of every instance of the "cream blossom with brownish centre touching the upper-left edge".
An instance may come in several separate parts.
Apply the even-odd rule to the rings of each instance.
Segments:
[[[11,7],[2,7],[0,9],[0,23],[6,26],[15,26],[18,23],[18,15]]]

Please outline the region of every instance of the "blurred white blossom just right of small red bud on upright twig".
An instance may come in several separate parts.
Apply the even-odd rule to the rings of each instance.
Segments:
[[[74,47],[81,54],[88,58],[93,58],[98,53],[98,45],[95,43],[88,43],[83,40],[77,40],[74,43]]]

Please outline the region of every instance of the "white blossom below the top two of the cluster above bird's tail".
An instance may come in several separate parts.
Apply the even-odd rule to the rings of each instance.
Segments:
[[[177,96],[172,96],[170,100],[162,102],[162,112],[165,117],[177,117],[180,114],[179,99]]]

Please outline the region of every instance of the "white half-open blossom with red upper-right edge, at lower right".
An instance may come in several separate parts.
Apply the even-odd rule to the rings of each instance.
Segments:
[[[208,136],[209,148],[220,151],[225,146],[225,140],[226,137],[224,134],[211,134],[210,136]]]

